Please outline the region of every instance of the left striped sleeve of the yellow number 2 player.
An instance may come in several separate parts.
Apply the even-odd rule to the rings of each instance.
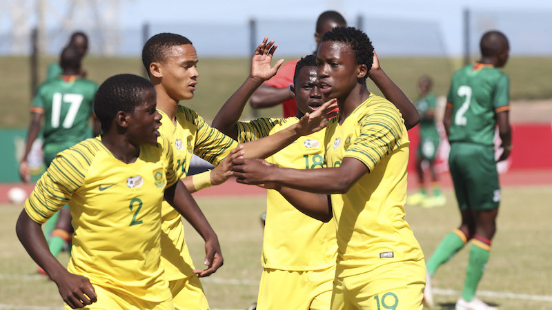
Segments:
[[[25,202],[25,211],[39,224],[46,223],[56,211],[68,203],[84,181],[83,169],[70,152],[62,152],[42,174],[29,198]]]

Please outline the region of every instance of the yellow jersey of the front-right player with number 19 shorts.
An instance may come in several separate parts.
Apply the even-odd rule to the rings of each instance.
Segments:
[[[342,125],[326,129],[326,162],[339,167],[353,157],[368,167],[346,194],[331,196],[337,228],[337,273],[364,273],[389,262],[424,256],[404,220],[408,134],[397,108],[371,95]]]

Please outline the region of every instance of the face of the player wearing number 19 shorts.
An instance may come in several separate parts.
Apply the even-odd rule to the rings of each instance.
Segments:
[[[348,96],[358,83],[360,65],[347,43],[324,41],[316,56],[318,85],[324,99]]]

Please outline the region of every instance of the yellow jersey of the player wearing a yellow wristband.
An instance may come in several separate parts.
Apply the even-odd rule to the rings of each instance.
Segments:
[[[179,106],[176,114],[176,126],[169,116],[161,110],[159,132],[165,136],[172,147],[175,160],[175,172],[178,178],[188,174],[192,154],[217,165],[230,150],[237,147],[233,138],[210,127],[204,119],[188,107]],[[185,271],[193,267],[192,259],[184,240],[184,225],[178,211],[166,201],[163,202],[161,224],[161,260],[166,269],[168,280],[185,278]]]

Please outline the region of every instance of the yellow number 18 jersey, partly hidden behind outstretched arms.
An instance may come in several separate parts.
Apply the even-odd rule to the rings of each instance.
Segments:
[[[299,118],[259,118],[237,123],[241,143],[263,138],[297,123]],[[269,163],[295,169],[324,167],[324,130],[302,136],[273,156]],[[264,268],[307,271],[335,265],[335,227],[295,209],[279,192],[267,190],[266,225],[261,262]]]

